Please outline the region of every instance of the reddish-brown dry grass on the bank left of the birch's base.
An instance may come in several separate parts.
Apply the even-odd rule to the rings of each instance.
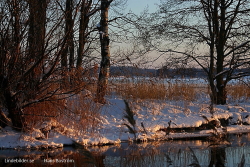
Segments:
[[[24,109],[24,115],[28,130],[43,122],[55,120],[69,129],[74,129],[75,135],[94,132],[100,123],[99,105],[86,92],[67,100],[33,104]]]

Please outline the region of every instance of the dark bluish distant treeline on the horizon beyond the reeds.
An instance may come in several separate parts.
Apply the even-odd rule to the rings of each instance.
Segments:
[[[247,72],[250,68],[238,69],[235,72]],[[147,77],[190,77],[190,78],[204,78],[206,73],[200,68],[161,68],[161,69],[147,69],[147,68],[137,68],[130,66],[113,66],[110,67],[111,76],[147,76]]]

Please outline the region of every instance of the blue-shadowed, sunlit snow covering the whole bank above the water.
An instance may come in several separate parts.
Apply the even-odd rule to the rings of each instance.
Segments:
[[[187,101],[163,101],[163,100],[127,100],[136,120],[137,139],[143,142],[148,140],[169,140],[174,138],[206,137],[212,130],[198,132],[166,132],[161,128],[195,128],[207,123],[208,120],[229,119],[229,133],[250,132],[250,103],[215,105],[213,115],[207,97],[199,98],[194,102]],[[134,135],[128,132],[124,123],[125,103],[118,96],[108,96],[107,104],[101,106],[100,126],[93,133],[79,133],[73,126],[64,126],[56,120],[50,119],[38,127],[34,127],[29,133],[20,133],[10,127],[0,129],[0,148],[34,149],[34,148],[58,148],[64,145],[103,145],[121,142],[132,142]],[[75,122],[72,122],[72,124]],[[146,129],[144,129],[142,124]],[[52,128],[54,127],[54,129]],[[41,131],[48,130],[48,136]],[[222,131],[222,127],[218,128]],[[79,135],[80,134],[80,135]]]

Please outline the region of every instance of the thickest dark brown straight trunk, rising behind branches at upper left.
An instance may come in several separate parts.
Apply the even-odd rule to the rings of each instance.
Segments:
[[[28,59],[30,64],[38,63],[27,77],[30,90],[37,90],[40,77],[44,73],[45,31],[47,0],[29,0]],[[34,98],[34,97],[31,97]]]

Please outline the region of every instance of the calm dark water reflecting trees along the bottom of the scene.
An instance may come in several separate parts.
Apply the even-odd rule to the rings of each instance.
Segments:
[[[191,141],[123,143],[86,149],[0,150],[0,167],[250,167],[250,134],[230,136],[230,145]],[[212,145],[211,145],[212,144]]]

